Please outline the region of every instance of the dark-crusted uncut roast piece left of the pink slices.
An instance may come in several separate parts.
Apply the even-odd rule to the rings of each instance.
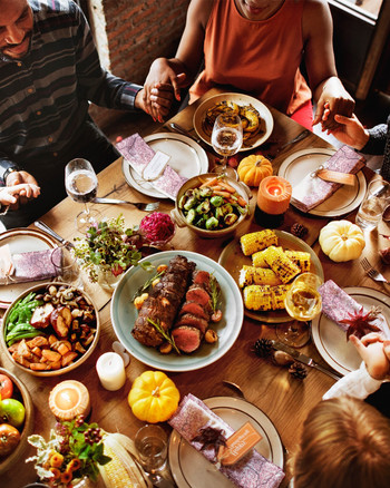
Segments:
[[[169,261],[168,269],[145,300],[134,324],[131,334],[138,342],[152,347],[163,343],[162,334],[148,319],[165,330],[172,328],[194,270],[195,263],[184,256],[178,255]]]

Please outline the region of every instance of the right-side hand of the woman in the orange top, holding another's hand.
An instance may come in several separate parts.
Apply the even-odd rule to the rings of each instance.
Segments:
[[[354,109],[354,100],[342,86],[337,77],[326,80],[321,96],[316,103],[313,126],[321,123],[322,130],[334,130],[339,123],[334,116],[343,115],[351,117]]]

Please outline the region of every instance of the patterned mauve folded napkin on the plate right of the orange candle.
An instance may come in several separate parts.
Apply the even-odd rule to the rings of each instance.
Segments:
[[[333,156],[322,165],[333,172],[357,174],[365,159],[349,146],[342,146]],[[291,203],[302,212],[309,212],[333,195],[342,185],[340,183],[324,182],[314,173],[306,175],[301,183],[293,187]]]

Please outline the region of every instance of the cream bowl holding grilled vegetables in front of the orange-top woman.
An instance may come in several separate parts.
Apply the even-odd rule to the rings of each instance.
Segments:
[[[220,94],[214,95],[214,97],[207,98],[204,100],[195,110],[193,125],[196,134],[203,139],[205,143],[212,145],[211,137],[203,129],[203,120],[206,117],[206,111],[214,107],[214,105],[220,104],[221,101],[234,101],[240,106],[252,105],[260,114],[261,118],[261,130],[253,137],[247,139],[247,145],[243,146],[240,152],[251,150],[255,147],[261,146],[265,143],[265,140],[271,136],[273,130],[273,117],[269,108],[257,98],[250,97],[244,94]]]

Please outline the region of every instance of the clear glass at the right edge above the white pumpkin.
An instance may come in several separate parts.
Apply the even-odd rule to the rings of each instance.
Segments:
[[[390,184],[382,179],[370,182],[364,199],[360,204],[355,223],[359,227],[371,231],[381,219],[384,207],[390,202]]]

